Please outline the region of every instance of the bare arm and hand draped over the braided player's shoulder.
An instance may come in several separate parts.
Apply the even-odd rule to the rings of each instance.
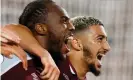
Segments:
[[[49,52],[40,46],[38,41],[34,38],[32,32],[23,25],[10,24],[6,26],[6,28],[19,35],[21,39],[20,46],[24,50],[38,56],[41,59],[41,62],[45,67],[41,73],[41,77],[43,79],[52,77],[54,80],[58,80],[60,73],[59,69],[57,68]]]

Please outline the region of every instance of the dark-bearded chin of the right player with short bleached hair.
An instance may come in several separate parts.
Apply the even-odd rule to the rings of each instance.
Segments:
[[[92,64],[90,65],[90,71],[95,75],[99,76],[101,74],[101,67],[99,67],[98,64]]]

